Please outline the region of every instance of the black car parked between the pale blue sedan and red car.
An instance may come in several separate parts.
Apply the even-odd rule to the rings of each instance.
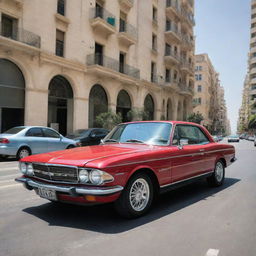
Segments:
[[[75,140],[81,146],[100,144],[100,141],[109,133],[103,128],[79,129],[67,135],[67,138]]]

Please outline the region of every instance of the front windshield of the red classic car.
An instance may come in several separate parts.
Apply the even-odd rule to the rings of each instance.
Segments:
[[[164,146],[170,143],[171,128],[170,123],[160,122],[121,124],[105,137],[103,143],[145,143]]]

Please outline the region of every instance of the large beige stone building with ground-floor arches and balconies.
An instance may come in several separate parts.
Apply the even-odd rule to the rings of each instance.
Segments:
[[[108,110],[186,119],[193,26],[193,0],[1,0],[0,131],[66,134]]]

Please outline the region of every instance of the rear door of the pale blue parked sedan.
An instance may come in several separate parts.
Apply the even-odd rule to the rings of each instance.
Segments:
[[[48,141],[44,137],[42,128],[33,127],[30,128],[26,134],[25,138],[28,146],[30,147],[32,154],[39,154],[48,151]]]

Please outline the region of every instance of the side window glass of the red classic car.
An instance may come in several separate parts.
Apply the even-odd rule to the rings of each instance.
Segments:
[[[181,139],[188,140],[189,145],[209,143],[208,138],[196,126],[177,125],[173,135],[172,145],[179,145]]]

